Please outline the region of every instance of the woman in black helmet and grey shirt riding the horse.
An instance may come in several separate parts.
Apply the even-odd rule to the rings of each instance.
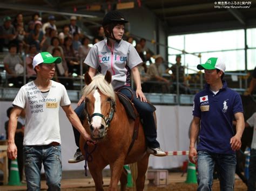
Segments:
[[[96,75],[99,67],[101,68],[100,73],[104,75],[107,71],[111,72],[113,88],[130,99],[133,97],[132,102],[144,122],[144,132],[148,145],[147,152],[157,156],[165,156],[166,153],[161,150],[160,144],[156,139],[157,130],[153,118],[154,109],[147,103],[142,91],[137,66],[143,61],[140,59],[136,49],[130,43],[123,40],[124,25],[127,22],[123,13],[119,11],[108,12],[103,18],[102,23],[106,38],[92,46],[84,63],[89,66],[89,75],[91,77]],[[131,88],[130,73],[132,73],[134,83],[136,84],[136,91]],[[123,87],[126,89],[122,89]],[[130,89],[130,91],[127,89]],[[78,102],[80,106],[75,110],[79,114],[84,108],[84,98],[83,96],[80,98]],[[78,116],[80,116],[79,114]],[[76,143],[78,144],[79,136],[77,136],[76,132],[74,133]],[[69,162],[77,162],[83,159],[80,151],[77,150],[74,159],[69,160]]]

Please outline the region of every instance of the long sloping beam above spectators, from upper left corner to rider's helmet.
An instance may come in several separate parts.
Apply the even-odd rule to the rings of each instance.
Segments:
[[[91,11],[76,11],[72,12],[65,9],[54,9],[54,8],[46,8],[44,6],[33,6],[26,4],[17,4],[17,3],[0,3],[0,9],[11,9],[11,10],[25,10],[25,11],[33,11],[33,12],[45,12],[56,15],[65,15],[65,16],[77,16],[77,17],[85,17],[85,18],[97,18],[104,17],[104,13],[100,12],[91,12]],[[85,14],[87,13],[87,14]]]

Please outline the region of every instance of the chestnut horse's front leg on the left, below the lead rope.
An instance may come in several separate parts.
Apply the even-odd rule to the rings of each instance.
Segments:
[[[95,190],[104,191],[102,176],[103,168],[100,168],[95,162],[88,162],[88,167],[92,175],[93,181],[95,182]]]

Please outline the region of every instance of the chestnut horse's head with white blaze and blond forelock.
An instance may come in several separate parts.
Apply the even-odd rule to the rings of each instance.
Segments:
[[[89,73],[85,80],[85,112],[90,125],[91,137],[102,139],[114,115],[115,94],[111,85],[111,73],[98,74],[91,79]]]

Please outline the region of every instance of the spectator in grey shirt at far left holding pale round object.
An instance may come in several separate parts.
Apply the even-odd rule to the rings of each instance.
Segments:
[[[20,88],[23,84],[24,67],[22,59],[17,55],[17,46],[15,44],[9,45],[9,53],[4,56],[4,69],[11,77],[8,79],[9,83],[13,83],[15,87]]]

